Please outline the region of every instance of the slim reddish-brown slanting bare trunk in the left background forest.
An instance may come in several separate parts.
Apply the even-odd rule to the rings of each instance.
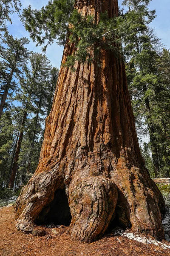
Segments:
[[[16,148],[16,151],[15,151],[14,161],[13,161],[13,165],[12,165],[12,169],[11,169],[11,176],[10,176],[9,183],[8,183],[9,188],[14,187],[15,176],[16,176],[16,173],[17,173],[18,160],[19,160],[19,155],[20,155],[20,150],[21,150],[21,143],[22,143],[22,140],[23,140],[26,116],[27,116],[27,111],[24,111],[23,120],[22,120],[21,128],[20,128],[20,135],[18,137],[17,148]]]

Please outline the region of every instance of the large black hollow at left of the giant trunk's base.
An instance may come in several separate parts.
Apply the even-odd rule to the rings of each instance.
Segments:
[[[70,225],[71,212],[64,189],[55,192],[54,200],[42,209],[35,223],[37,225]]]

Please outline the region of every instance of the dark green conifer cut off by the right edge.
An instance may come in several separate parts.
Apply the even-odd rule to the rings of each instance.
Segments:
[[[163,49],[156,65],[158,84],[152,96],[152,114],[159,151],[160,175],[170,177],[170,51]]]

